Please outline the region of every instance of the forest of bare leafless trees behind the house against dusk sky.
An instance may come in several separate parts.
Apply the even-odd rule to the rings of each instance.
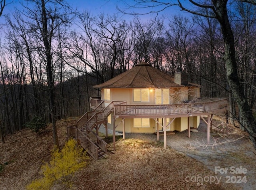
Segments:
[[[230,6],[237,72],[255,110],[256,6],[239,1]],[[127,21],[117,14],[76,12],[61,0],[24,0],[22,10],[1,18],[2,137],[21,130],[34,116],[52,123],[81,116],[90,110],[90,96],[99,94],[93,85],[141,61],[171,75],[186,72],[190,82],[202,85],[202,97],[228,98],[228,115],[243,126],[226,76],[220,24],[214,18],[176,15],[145,21],[134,16]]]

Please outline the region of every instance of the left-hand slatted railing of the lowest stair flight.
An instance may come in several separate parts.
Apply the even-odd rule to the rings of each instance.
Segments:
[[[88,138],[80,129],[78,131],[78,140],[81,146],[87,150],[88,154],[95,160],[98,160],[98,147]]]

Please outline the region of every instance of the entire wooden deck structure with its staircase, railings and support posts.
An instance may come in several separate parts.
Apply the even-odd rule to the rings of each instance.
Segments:
[[[67,139],[76,138],[81,146],[87,150],[95,160],[107,153],[107,144],[98,136],[98,127],[107,122],[107,117],[114,112],[114,118],[178,118],[208,115],[207,123],[207,140],[210,138],[210,115],[226,109],[226,99],[212,98],[208,100],[196,99],[193,101],[182,102],[180,104],[167,105],[128,105],[127,102],[112,101],[108,106],[104,100],[99,97],[91,98],[91,112],[86,112],[73,126],[67,127]],[[173,121],[173,120],[172,120]],[[96,128],[96,133],[92,130]],[[164,128],[164,148],[166,148],[166,128]],[[115,130],[115,127],[113,128]],[[115,134],[115,131],[113,131]],[[107,136],[107,128],[106,128]],[[157,133],[159,139],[159,131]],[[190,129],[188,126],[188,137]],[[124,128],[123,128],[124,138]],[[115,150],[115,135],[113,136]]]

